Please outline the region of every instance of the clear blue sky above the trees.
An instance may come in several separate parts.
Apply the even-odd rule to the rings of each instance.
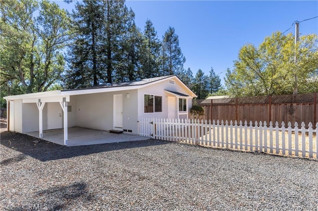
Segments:
[[[55,1],[71,11],[74,5]],[[318,1],[152,1],[128,0],[136,25],[144,30],[150,19],[161,39],[169,26],[179,36],[186,57],[184,68],[195,76],[211,67],[218,74],[233,66],[239,49],[261,44],[273,32],[284,32],[294,21],[318,16]],[[295,27],[287,33],[294,34]],[[300,34],[318,34],[318,18],[300,23]],[[224,84],[225,73],[220,74]]]

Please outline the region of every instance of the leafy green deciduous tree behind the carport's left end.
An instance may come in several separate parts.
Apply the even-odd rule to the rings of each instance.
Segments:
[[[47,0],[0,4],[1,89],[10,86],[14,94],[48,90],[64,71],[63,49],[70,40],[68,13]]]

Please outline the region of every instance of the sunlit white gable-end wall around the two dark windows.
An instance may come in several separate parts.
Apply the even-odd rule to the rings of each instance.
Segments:
[[[167,97],[175,97],[173,95],[170,95],[164,90],[173,91],[173,92],[179,92],[185,95],[189,95],[190,93],[188,90],[184,89],[184,85],[179,83],[177,80],[175,81],[175,85],[169,84],[168,80],[159,82],[157,84],[154,84],[149,87],[138,89],[138,117],[148,117],[148,118],[168,118],[168,99]],[[145,113],[144,111],[144,95],[157,95],[162,96],[162,112],[154,112],[154,113]],[[190,107],[192,106],[192,100],[187,99],[187,112],[189,112]],[[176,105],[176,112],[179,110],[177,98],[175,98],[175,105]],[[186,114],[187,112],[183,112]],[[181,113],[180,113],[181,114]],[[177,115],[176,115],[177,116]]]

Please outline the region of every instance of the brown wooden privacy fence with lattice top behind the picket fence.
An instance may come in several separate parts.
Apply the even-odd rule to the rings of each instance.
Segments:
[[[203,119],[232,119],[237,121],[318,122],[317,93],[298,95],[256,96],[194,100],[203,106]],[[281,126],[281,125],[280,125]]]

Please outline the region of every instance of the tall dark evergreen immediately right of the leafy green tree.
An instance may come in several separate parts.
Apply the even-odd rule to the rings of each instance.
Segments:
[[[103,81],[101,52],[104,14],[101,1],[83,0],[73,13],[74,43],[70,48],[70,69],[66,74],[67,88],[97,86]],[[98,77],[99,76],[99,77]]]

